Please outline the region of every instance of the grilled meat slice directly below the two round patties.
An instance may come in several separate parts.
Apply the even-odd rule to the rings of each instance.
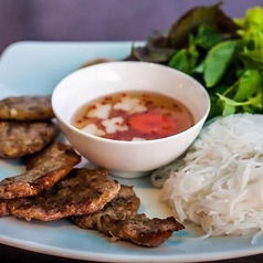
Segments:
[[[80,161],[81,156],[71,146],[53,143],[28,159],[25,172],[0,182],[0,199],[36,196],[54,186]]]

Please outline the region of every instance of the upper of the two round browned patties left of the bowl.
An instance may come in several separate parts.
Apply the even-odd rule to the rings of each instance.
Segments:
[[[54,117],[51,96],[17,96],[0,101],[0,119],[48,120]]]

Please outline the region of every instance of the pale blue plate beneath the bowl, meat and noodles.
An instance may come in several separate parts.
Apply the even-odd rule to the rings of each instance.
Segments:
[[[0,98],[11,95],[51,94],[55,85],[86,61],[97,57],[122,60],[128,56],[130,42],[18,42],[0,57]],[[87,165],[83,160],[81,166]],[[22,172],[20,161],[0,160],[0,179]],[[149,217],[168,217],[172,210],[159,201],[160,191],[150,186],[149,178],[122,180],[134,185],[141,199],[140,212]],[[35,252],[101,262],[198,262],[239,257],[262,253],[263,238],[254,244],[252,236],[200,236],[193,225],[176,232],[156,249],[140,248],[127,242],[111,242],[96,231],[82,230],[67,220],[40,222],[12,217],[0,219],[0,242]]]

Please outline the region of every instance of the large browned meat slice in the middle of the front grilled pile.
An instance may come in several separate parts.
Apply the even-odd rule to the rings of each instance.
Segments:
[[[107,179],[104,169],[73,169],[54,187],[31,198],[10,200],[12,215],[52,221],[101,210],[117,196],[119,183]]]

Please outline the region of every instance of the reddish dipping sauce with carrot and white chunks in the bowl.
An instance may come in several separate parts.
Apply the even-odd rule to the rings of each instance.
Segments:
[[[115,140],[149,140],[179,134],[193,126],[186,105],[159,93],[111,94],[82,106],[73,125]]]

